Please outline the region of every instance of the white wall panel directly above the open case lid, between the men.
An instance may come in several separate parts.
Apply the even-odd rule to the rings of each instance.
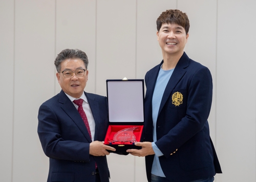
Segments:
[[[135,79],[136,1],[97,1],[96,93],[106,79]]]

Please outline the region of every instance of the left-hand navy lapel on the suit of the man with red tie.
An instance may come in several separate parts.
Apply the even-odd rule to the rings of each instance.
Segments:
[[[86,125],[84,124],[80,114],[77,112],[74,104],[68,98],[68,96],[61,90],[59,93],[59,102],[62,103],[61,108],[65,111],[69,117],[74,121],[81,133],[86,137],[88,142],[92,142],[91,137],[87,131]]]

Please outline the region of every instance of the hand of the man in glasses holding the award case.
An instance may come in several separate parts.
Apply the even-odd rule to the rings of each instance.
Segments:
[[[108,145],[104,145],[103,143],[104,142],[99,142],[99,141],[93,141],[92,143],[90,143],[89,153],[94,156],[105,156],[110,154],[106,150],[116,151],[115,148]]]

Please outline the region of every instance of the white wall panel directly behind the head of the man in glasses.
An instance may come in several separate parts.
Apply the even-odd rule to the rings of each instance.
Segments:
[[[56,1],[56,53],[66,48],[78,48],[87,54],[89,79],[86,92],[95,92],[96,1]],[[54,63],[54,60],[52,60]],[[55,76],[56,77],[56,76]],[[56,92],[60,86],[56,81]]]

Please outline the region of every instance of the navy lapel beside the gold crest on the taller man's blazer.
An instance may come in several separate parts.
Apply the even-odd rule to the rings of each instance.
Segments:
[[[166,88],[164,90],[163,97],[161,100],[161,104],[159,107],[158,116],[159,116],[160,112],[162,111],[167,99],[169,98],[170,93],[172,93],[175,86],[179,83],[182,76],[185,74],[186,69],[184,69],[184,68],[186,68],[188,66],[188,61],[189,61],[189,58],[187,57],[186,53],[184,52],[182,57],[180,58],[179,62],[177,63],[172,76],[170,76],[170,79],[166,85]]]

